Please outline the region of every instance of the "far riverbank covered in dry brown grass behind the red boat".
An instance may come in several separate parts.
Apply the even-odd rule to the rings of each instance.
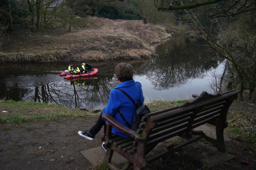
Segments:
[[[99,61],[144,59],[154,56],[156,44],[172,37],[162,25],[141,20],[78,18],[72,32],[46,29],[43,34],[28,30],[9,32],[0,49],[0,62]]]

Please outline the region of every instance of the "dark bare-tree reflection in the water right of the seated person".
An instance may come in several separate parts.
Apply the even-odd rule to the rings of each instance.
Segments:
[[[179,40],[181,41],[181,40]],[[184,39],[184,44],[176,41],[159,45],[159,57],[149,60],[137,72],[146,74],[156,90],[179,87],[189,79],[203,78],[211,67],[216,68],[217,60],[209,57],[208,47]],[[197,44],[197,45],[193,45]]]

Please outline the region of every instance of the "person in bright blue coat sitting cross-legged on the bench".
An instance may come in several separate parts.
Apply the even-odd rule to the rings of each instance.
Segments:
[[[102,114],[105,113],[111,114],[115,118],[115,120],[117,120],[122,125],[128,127],[124,120],[121,118],[121,116],[118,114],[118,111],[120,111],[123,114],[123,117],[125,117],[125,120],[129,124],[132,123],[136,107],[125,94],[117,89],[120,88],[125,91],[134,101],[141,99],[141,103],[143,104],[144,97],[142,93],[141,83],[135,82],[133,80],[133,67],[129,63],[119,63],[118,65],[116,65],[115,76],[117,78],[118,85],[110,91],[107,107],[103,109],[102,113],[98,118],[98,121],[90,130],[87,130],[85,132],[78,132],[80,136],[93,141],[95,135],[101,130],[102,126],[106,125],[105,121],[101,119]],[[141,91],[141,96],[139,96],[139,91]],[[112,128],[112,133],[124,138],[128,137],[114,127]],[[106,126],[104,127],[104,134],[106,134]],[[106,151],[104,142],[102,144],[102,147]]]

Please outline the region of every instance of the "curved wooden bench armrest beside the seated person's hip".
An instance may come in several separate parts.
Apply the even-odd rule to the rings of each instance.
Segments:
[[[126,126],[119,123],[117,120],[115,120],[111,114],[104,113],[102,114],[102,120],[107,121],[111,126],[116,128],[117,130],[121,131],[123,134],[126,134],[132,138],[134,138],[136,141],[142,142],[144,139],[139,137],[137,133]]]

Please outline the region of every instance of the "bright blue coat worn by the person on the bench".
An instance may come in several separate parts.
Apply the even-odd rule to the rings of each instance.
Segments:
[[[115,120],[120,122],[122,125],[128,127],[121,116],[118,114],[118,110],[123,114],[125,119],[129,124],[132,123],[133,117],[136,111],[136,107],[133,102],[121,91],[116,90],[117,88],[121,88],[125,91],[134,101],[139,99],[139,88],[141,90],[141,103],[144,102],[144,97],[141,89],[141,83],[135,82],[133,79],[129,81],[122,82],[118,84],[114,89],[110,91],[109,103],[107,107],[103,110],[102,114],[109,113],[111,114]],[[128,136],[121,133],[119,130],[112,128],[112,133],[127,138]]]

